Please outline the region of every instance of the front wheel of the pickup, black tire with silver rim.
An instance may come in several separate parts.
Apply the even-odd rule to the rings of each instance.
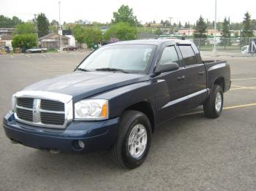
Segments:
[[[138,130],[136,130],[136,127]],[[130,139],[129,142],[129,138],[133,137],[132,135],[139,136],[139,134],[136,134],[136,132],[144,132],[143,134],[146,135],[140,139]],[[137,144],[131,144],[135,142]],[[138,149],[139,145],[140,148],[143,149]],[[146,114],[132,110],[124,112],[124,114],[121,116],[120,125],[118,127],[118,137],[110,149],[110,157],[113,163],[121,168],[137,168],[146,159],[150,145],[151,123],[149,122],[148,117],[146,117]],[[137,148],[132,150],[132,148],[135,148],[134,146]],[[138,155],[136,155],[137,152]]]

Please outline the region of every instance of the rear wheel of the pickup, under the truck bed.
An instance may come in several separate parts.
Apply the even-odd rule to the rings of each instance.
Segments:
[[[223,90],[220,85],[214,85],[211,94],[203,104],[203,112],[206,117],[217,118],[222,113]]]

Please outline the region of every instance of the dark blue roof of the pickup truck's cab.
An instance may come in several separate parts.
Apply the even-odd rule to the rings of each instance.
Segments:
[[[108,44],[107,46],[112,45],[121,45],[121,44],[151,44],[151,45],[160,45],[165,44],[167,42],[171,42],[173,44],[192,44],[193,42],[188,40],[181,40],[181,39],[140,39],[140,40],[130,40],[130,41],[121,41],[115,42],[112,44]]]

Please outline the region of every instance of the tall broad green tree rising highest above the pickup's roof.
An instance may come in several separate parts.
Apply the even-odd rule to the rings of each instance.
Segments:
[[[137,26],[138,20],[137,17],[133,15],[132,8],[123,4],[117,12],[113,12],[112,23],[129,23],[131,26]]]

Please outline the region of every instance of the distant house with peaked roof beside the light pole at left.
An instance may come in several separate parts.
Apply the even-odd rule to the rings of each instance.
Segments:
[[[61,42],[60,42],[61,39]],[[66,47],[69,45],[69,37],[67,36],[61,36],[59,34],[47,34],[45,36],[42,36],[38,39],[38,44],[40,47],[43,48],[59,48],[60,44],[61,47]]]

